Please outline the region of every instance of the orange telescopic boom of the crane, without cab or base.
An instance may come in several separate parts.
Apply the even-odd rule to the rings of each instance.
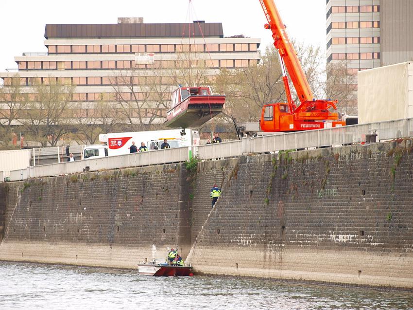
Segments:
[[[300,102],[312,101],[314,96],[310,90],[309,82],[298,60],[293,44],[288,37],[287,29],[281,20],[274,0],[259,0],[259,2],[268,20],[268,25],[273,32],[274,46],[284,61],[285,68],[290,74]],[[282,66],[282,64],[280,65]]]

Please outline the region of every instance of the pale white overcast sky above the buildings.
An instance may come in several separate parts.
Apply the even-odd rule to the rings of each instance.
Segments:
[[[265,30],[258,0],[0,0],[0,72],[17,68],[14,57],[47,52],[46,24],[117,23],[118,17],[143,17],[147,23],[192,20],[222,22],[224,36],[245,35],[261,39],[260,49],[272,44]],[[326,49],[325,0],[275,0],[290,36]],[[195,15],[196,14],[196,15]]]

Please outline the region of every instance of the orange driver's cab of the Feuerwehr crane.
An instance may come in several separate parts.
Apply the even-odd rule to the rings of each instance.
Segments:
[[[294,115],[286,103],[271,103],[262,108],[259,126],[262,131],[293,131]]]

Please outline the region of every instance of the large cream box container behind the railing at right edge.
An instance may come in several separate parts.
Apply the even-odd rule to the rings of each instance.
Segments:
[[[359,124],[413,117],[413,62],[358,73]]]

